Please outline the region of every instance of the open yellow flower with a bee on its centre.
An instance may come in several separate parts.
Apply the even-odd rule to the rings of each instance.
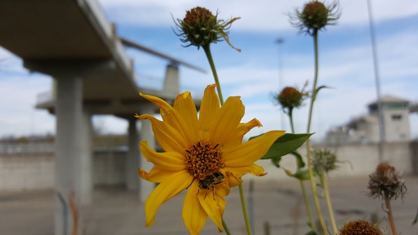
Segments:
[[[183,220],[190,234],[199,234],[208,216],[222,231],[223,197],[241,183],[242,175],[265,175],[254,162],[284,131],[269,131],[242,143],[245,133],[261,127],[261,123],[256,119],[240,123],[245,109],[240,97],[229,97],[219,107],[215,87],[206,88],[199,118],[190,92],[178,95],[173,106],[158,97],[140,94],[160,107],[162,121],[149,114],[135,116],[151,122],[155,138],[164,149],[155,152],[146,140],[140,143],[142,154],[154,167],[150,172],[139,169],[139,175],[159,183],[146,200],[147,227],[153,225],[162,203],[188,189]]]

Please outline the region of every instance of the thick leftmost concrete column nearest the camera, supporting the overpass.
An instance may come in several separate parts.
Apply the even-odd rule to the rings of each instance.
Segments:
[[[56,157],[55,157],[55,234],[67,235],[74,225],[80,228],[79,217],[73,221],[70,210],[70,194],[80,208],[81,169],[83,155],[83,107],[82,78],[60,76],[56,79]],[[77,222],[77,223],[76,223]]]

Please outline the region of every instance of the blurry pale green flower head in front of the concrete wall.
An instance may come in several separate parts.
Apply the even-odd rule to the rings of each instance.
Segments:
[[[318,171],[329,172],[338,168],[336,163],[336,154],[328,149],[314,149],[311,151],[312,167]]]

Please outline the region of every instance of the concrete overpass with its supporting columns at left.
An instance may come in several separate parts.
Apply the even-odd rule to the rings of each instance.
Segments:
[[[55,234],[68,234],[74,224],[68,211],[70,193],[75,193],[78,206],[92,200],[91,115],[128,120],[127,187],[138,190],[144,200],[153,184],[139,181],[138,166],[150,165],[139,160],[143,158],[138,143],[148,139],[155,145],[155,140],[148,122],[141,123],[141,134],[137,133],[133,115],[156,110],[138,93],[173,101],[179,92],[177,65],[183,62],[166,56],[171,65],[164,90],[138,88],[122,42],[141,48],[118,38],[95,0],[0,0],[0,16],[0,46],[22,58],[31,72],[54,79],[52,92],[37,108],[56,115]]]

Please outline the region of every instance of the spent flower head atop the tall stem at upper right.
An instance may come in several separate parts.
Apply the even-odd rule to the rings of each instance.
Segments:
[[[340,15],[336,1],[327,6],[320,1],[309,1],[304,5],[303,10],[295,9],[289,17],[291,24],[297,29],[314,35],[321,29],[325,29],[325,26],[336,24]]]

